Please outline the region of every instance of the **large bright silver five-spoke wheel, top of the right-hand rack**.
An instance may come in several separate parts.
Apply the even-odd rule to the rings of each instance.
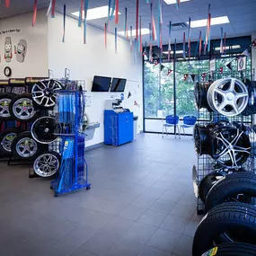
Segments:
[[[249,93],[246,85],[236,78],[216,80],[207,92],[207,102],[210,108],[228,117],[242,113],[248,100]]]

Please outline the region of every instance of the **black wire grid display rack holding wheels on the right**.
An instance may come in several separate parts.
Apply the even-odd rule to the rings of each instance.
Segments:
[[[202,75],[199,75],[198,77],[202,77]],[[226,72],[224,74],[219,74],[219,72],[212,73],[209,75],[210,81],[199,82],[202,84],[203,88],[206,88],[206,91],[201,92],[201,94],[207,92],[209,82],[213,83],[213,81],[216,81],[217,79],[228,77],[233,77],[245,82],[246,79],[253,80],[252,78],[254,76],[248,72]],[[206,94],[204,96],[206,96]],[[195,94],[195,97],[197,102],[197,100],[199,100],[197,99],[199,95]],[[249,99],[249,102],[252,101],[251,103],[254,104],[254,102],[256,102],[256,97],[253,93],[252,98],[253,99]],[[209,107],[207,108],[206,102],[201,103],[202,105],[200,105],[200,103],[198,104],[198,122],[194,128],[195,149],[198,151],[198,163],[197,166],[193,167],[194,191],[198,198],[197,210],[199,215],[204,214],[204,203],[199,197],[199,184],[204,177],[210,172],[222,172],[222,170],[226,173],[233,172],[234,170],[235,172],[240,170],[255,172],[256,154],[255,129],[253,126],[254,116],[252,114],[244,115],[243,111],[242,114],[227,117],[219,112],[211,110]],[[223,125],[220,125],[218,128],[218,124],[220,123]],[[200,132],[199,128],[201,128]],[[233,132],[232,135],[229,135],[232,137],[229,141],[225,137],[225,128],[229,129],[230,134]],[[214,130],[214,136],[220,143],[215,144],[213,141],[207,140],[207,134],[205,132],[210,132],[211,130]],[[196,145],[197,137],[200,137],[203,140],[203,143]],[[249,142],[245,141],[246,137],[249,137]],[[222,144],[222,150],[216,149],[216,146],[219,146],[220,144]],[[245,145],[243,148],[241,146],[242,144],[243,146]],[[207,151],[215,151],[218,154],[206,154]],[[244,157],[244,154],[246,157]],[[221,174],[219,174],[219,176],[221,176]]]

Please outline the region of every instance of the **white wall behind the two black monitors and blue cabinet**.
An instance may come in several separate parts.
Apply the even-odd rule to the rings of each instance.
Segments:
[[[128,40],[118,39],[118,53],[115,54],[114,35],[108,34],[108,48],[104,48],[104,31],[88,25],[87,44],[84,45],[83,29],[77,26],[77,20],[66,18],[66,42],[62,42],[63,15],[49,17],[49,68],[54,77],[64,76],[65,68],[71,71],[70,78],[85,80],[86,90],[91,96],[92,107],[86,112],[92,122],[99,121],[101,128],[95,130],[94,138],[86,146],[103,142],[104,102],[119,93],[91,93],[94,75],[121,77],[128,79],[123,106],[134,111],[139,117],[138,130],[143,129],[142,60],[141,54],[134,64],[133,54],[129,51]],[[140,57],[139,57],[140,56]],[[128,99],[128,92],[132,97]],[[139,107],[134,106],[137,101]]]

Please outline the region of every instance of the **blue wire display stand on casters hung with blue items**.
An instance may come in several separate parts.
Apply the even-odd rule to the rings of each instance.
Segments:
[[[64,194],[86,188],[88,164],[85,161],[85,134],[83,131],[85,92],[79,84],[69,84],[66,90],[57,92],[56,120],[60,125],[62,159],[57,180],[51,182],[51,189]]]

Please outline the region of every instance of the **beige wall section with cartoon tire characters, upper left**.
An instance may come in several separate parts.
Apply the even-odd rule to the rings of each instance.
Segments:
[[[0,78],[5,79],[4,67],[10,66],[12,77],[22,78],[26,76],[47,76],[48,75],[48,22],[46,11],[38,12],[37,23],[33,28],[32,13],[13,16],[1,19],[0,32],[5,30],[22,29],[22,33],[7,33],[0,35]],[[4,59],[4,41],[6,37],[11,37],[13,58],[11,62]],[[27,41],[27,52],[23,62],[17,61],[14,53],[14,46],[18,46],[20,40]]]

